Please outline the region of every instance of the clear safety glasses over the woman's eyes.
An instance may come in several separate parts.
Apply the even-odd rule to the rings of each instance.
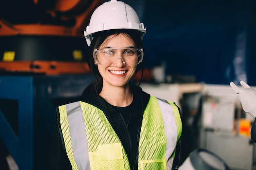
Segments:
[[[143,49],[94,49],[93,57],[95,62],[103,66],[114,66],[119,61],[119,59],[126,66],[136,66],[143,60]]]

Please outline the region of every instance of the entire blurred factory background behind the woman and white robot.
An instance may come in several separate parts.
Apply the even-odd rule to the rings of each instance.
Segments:
[[[93,79],[83,30],[105,1],[0,2],[1,170],[46,169],[55,106]],[[255,170],[253,119],[229,83],[256,86],[256,1],[123,1],[147,27],[141,87],[182,110],[181,161],[205,148],[232,170]]]

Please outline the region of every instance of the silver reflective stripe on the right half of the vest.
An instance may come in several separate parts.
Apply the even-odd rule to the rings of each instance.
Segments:
[[[161,109],[161,113],[164,121],[164,130],[166,132],[166,138],[167,138],[167,145],[166,145],[167,146],[166,147],[167,170],[171,170],[172,164],[173,164],[172,151],[175,150],[177,136],[178,136],[176,121],[175,121],[173,108],[171,104],[159,98],[157,98],[157,101]]]

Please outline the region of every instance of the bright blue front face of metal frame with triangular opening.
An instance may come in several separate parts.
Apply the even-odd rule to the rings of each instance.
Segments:
[[[1,77],[0,97],[18,100],[17,136],[0,110],[0,137],[19,165],[19,170],[33,169],[33,78]]]

